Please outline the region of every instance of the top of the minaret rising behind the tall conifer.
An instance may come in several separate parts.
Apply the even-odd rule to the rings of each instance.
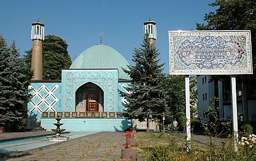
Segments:
[[[155,40],[157,40],[157,26],[155,26],[155,21],[151,21],[149,17],[149,21],[144,22],[144,36],[145,34],[149,34],[150,43],[155,44]]]

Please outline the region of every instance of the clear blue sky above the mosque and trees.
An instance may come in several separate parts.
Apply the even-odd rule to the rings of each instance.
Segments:
[[[204,15],[214,11],[214,0],[45,0],[0,1],[0,34],[10,45],[15,40],[20,54],[32,48],[31,23],[45,24],[45,36],[59,36],[68,43],[72,61],[100,42],[121,53],[133,64],[134,48],[143,42],[144,22],[157,24],[156,47],[168,73],[168,31],[196,30]]]

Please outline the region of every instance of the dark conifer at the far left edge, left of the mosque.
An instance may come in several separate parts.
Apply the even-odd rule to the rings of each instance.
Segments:
[[[26,114],[26,103],[31,73],[19,58],[15,42],[10,48],[0,37],[0,122],[1,125],[17,125]]]

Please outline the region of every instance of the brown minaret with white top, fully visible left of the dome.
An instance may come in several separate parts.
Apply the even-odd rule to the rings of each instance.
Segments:
[[[44,24],[39,22],[32,23],[31,40],[33,40],[31,69],[34,76],[31,80],[42,80],[42,40],[44,40]]]

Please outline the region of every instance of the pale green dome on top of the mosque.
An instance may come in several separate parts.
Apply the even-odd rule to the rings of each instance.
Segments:
[[[122,54],[103,43],[94,45],[83,51],[72,63],[70,69],[118,69],[120,79],[130,79],[123,72],[127,69],[128,61]]]

